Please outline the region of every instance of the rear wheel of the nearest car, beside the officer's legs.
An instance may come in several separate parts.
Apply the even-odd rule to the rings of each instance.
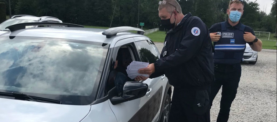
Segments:
[[[168,122],[169,119],[169,113],[170,113],[170,107],[171,107],[171,98],[167,93],[167,97],[163,104],[163,110],[162,110],[162,116],[160,122]]]

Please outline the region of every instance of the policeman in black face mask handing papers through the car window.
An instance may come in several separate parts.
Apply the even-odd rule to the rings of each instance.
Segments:
[[[160,59],[138,72],[150,78],[165,74],[174,86],[169,122],[209,122],[207,89],[214,79],[209,30],[200,18],[183,15],[176,0],[159,4],[161,24],[170,30]]]

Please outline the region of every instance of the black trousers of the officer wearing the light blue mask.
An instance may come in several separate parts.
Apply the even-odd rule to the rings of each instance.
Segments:
[[[210,104],[222,86],[220,110],[217,122],[227,122],[230,107],[237,94],[237,87],[242,74],[241,64],[214,64],[215,81],[211,83]]]

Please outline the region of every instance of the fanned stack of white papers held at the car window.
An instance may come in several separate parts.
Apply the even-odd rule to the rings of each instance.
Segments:
[[[145,68],[148,66],[149,63],[139,62],[139,61],[132,61],[129,66],[127,66],[126,72],[128,77],[131,79],[136,78],[137,76],[144,76],[148,77],[148,74],[139,74],[138,69]]]

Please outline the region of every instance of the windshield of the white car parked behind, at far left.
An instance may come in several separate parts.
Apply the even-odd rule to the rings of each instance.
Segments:
[[[28,20],[28,19],[8,19],[5,22],[0,24],[0,31],[10,31],[9,29],[5,29],[8,26],[18,24],[18,23],[31,23],[38,22],[36,20]],[[26,26],[26,28],[35,27],[35,26]]]

